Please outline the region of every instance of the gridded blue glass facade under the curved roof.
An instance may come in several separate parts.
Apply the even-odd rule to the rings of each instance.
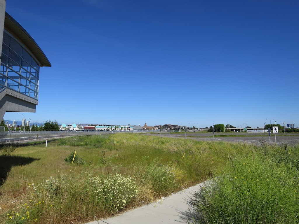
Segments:
[[[39,65],[6,30],[3,33],[0,91],[7,87],[38,100]]]

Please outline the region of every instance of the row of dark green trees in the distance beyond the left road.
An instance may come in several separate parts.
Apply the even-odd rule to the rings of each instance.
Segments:
[[[2,119],[0,126],[4,126],[5,131],[8,131],[8,127],[5,125],[4,120]],[[22,127],[10,127],[10,131],[24,131],[24,126]],[[25,131],[30,131],[30,127],[28,125],[25,126]],[[46,121],[44,125],[40,125],[39,127],[36,125],[32,125],[31,131],[59,131],[59,125],[57,121]]]

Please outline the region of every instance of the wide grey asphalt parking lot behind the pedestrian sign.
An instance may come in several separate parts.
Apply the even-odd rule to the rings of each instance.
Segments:
[[[160,133],[160,134],[151,134],[154,136],[163,136],[169,138],[185,138],[185,132],[179,132],[175,134],[170,133]],[[186,132],[186,139],[194,139],[196,141],[225,141],[225,142],[245,142],[248,144],[261,145],[262,142],[266,142],[267,144],[275,144],[275,136],[271,134],[269,139],[268,133],[215,133],[213,137],[213,133],[196,133],[196,132]],[[276,144],[286,144],[296,145],[299,144],[299,134],[277,134],[276,135]]]

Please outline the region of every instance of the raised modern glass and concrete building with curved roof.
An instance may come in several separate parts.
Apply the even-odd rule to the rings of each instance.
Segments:
[[[3,14],[3,12],[0,12]],[[51,67],[48,58],[27,31],[8,13],[4,17],[0,65],[0,119],[6,111],[35,112],[39,68]],[[0,24],[1,26],[1,24]]]

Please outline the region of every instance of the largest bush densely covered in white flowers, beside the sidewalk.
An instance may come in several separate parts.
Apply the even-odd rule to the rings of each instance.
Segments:
[[[109,176],[103,181],[94,177],[91,182],[98,193],[98,197],[102,197],[112,211],[120,211],[125,208],[138,193],[135,179],[122,177],[121,174]]]

